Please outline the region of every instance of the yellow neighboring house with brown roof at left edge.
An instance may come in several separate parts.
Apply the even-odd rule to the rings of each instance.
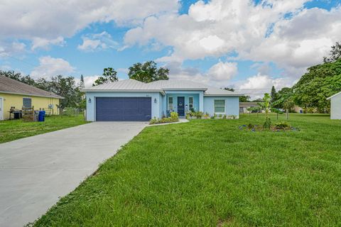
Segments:
[[[10,118],[10,111],[20,111],[23,106],[35,110],[44,109],[47,114],[59,114],[58,107],[62,96],[0,76],[0,121]],[[12,115],[13,117],[13,115]]]

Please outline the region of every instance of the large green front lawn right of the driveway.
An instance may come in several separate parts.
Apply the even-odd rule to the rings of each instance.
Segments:
[[[292,114],[301,131],[238,129],[263,118],[145,128],[35,224],[340,226],[341,121]]]

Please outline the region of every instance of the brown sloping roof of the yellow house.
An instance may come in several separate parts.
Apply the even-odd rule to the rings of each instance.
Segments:
[[[37,87],[33,87],[9,77],[0,76],[0,93],[6,94],[23,94],[28,96],[42,96],[56,99],[64,99],[62,96],[46,92]]]

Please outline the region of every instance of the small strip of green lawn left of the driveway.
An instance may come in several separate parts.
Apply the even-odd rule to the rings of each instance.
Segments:
[[[24,122],[20,120],[0,121],[0,143],[18,140],[32,135],[48,133],[79,126],[83,123],[84,117],[79,116],[48,116],[45,122]]]

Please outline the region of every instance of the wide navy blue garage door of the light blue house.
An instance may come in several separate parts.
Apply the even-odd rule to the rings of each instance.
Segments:
[[[96,121],[149,121],[150,97],[96,98]]]

